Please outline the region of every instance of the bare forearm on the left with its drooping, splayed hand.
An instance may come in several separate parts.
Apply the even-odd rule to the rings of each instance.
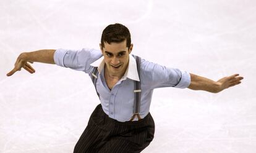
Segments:
[[[49,64],[55,64],[54,63],[54,55],[55,50],[38,50],[35,52],[23,52],[20,53],[19,57],[17,58],[14,69],[7,73],[7,76],[12,76],[16,71],[20,71],[21,68],[24,68],[29,73],[35,73],[35,69],[28,64],[28,62],[33,63],[35,62],[41,62],[41,63],[49,63]]]

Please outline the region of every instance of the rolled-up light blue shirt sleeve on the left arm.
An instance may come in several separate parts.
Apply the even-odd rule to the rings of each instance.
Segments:
[[[66,50],[58,49],[54,53],[54,62],[56,65],[84,71],[88,73],[91,68],[90,64],[101,57],[100,50],[82,49],[82,50]]]

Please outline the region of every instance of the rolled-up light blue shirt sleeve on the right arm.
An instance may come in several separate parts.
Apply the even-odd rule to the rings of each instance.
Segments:
[[[148,88],[187,88],[190,84],[190,74],[177,68],[167,68],[156,63],[142,60],[142,82]]]

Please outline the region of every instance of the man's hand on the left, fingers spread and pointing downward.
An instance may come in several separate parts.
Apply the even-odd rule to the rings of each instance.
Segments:
[[[33,61],[28,61],[26,60],[26,53],[20,53],[19,57],[17,58],[15,64],[14,64],[14,69],[7,73],[7,76],[12,76],[16,71],[20,71],[22,68],[27,70],[29,73],[35,73],[35,69],[32,68],[28,62],[33,63]]]

